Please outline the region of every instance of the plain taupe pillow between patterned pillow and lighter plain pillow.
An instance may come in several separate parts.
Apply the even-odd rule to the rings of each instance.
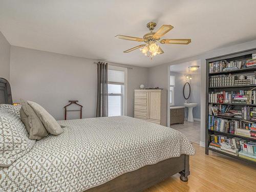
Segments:
[[[45,126],[41,120],[37,117],[31,106],[20,99],[22,103],[22,109],[20,109],[20,119],[25,124],[26,129],[29,133],[29,139],[40,140],[48,135]]]

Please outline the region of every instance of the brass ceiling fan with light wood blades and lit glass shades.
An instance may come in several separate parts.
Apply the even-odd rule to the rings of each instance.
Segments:
[[[160,29],[158,29],[157,32],[153,31],[156,27],[156,23],[154,23],[154,22],[148,23],[146,25],[146,27],[150,30],[150,32],[146,33],[143,36],[143,38],[131,37],[131,36],[126,36],[126,35],[116,35],[116,37],[118,37],[120,39],[145,42],[145,44],[128,49],[128,50],[124,51],[124,53],[129,53],[131,51],[141,48],[140,51],[145,56],[150,56],[152,58],[153,56],[156,56],[157,54],[164,53],[163,50],[159,47],[159,45],[156,44],[156,42],[160,42],[161,44],[181,44],[181,45],[187,45],[191,42],[191,39],[162,39],[162,40],[160,40],[160,38],[162,36],[164,36],[166,33],[168,33],[170,30],[172,30],[174,28],[171,25],[163,25],[162,27],[160,27]]]

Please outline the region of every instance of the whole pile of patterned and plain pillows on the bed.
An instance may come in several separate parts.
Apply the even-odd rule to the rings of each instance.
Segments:
[[[21,106],[0,104],[0,166],[8,167],[28,153],[36,140],[62,129],[42,106],[20,99]]]

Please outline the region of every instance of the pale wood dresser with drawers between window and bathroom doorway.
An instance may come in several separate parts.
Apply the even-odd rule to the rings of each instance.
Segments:
[[[135,90],[134,117],[166,126],[166,100],[166,90]]]

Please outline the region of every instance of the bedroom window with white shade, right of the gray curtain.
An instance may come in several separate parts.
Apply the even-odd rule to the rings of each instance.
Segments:
[[[127,69],[109,66],[108,108],[109,117],[126,115],[126,74]]]

